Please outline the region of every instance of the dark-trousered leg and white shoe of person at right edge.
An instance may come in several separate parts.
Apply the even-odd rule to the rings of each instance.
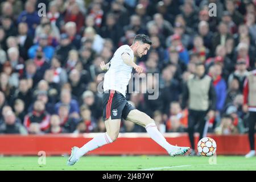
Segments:
[[[254,133],[255,133],[255,121],[256,121],[256,112],[250,112],[249,113],[249,142],[250,142],[250,152],[245,155],[246,158],[250,158],[252,156],[255,156],[255,146],[254,146]]]

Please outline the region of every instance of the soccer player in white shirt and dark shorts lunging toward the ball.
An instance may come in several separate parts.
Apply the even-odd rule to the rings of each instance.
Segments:
[[[121,118],[137,123],[146,128],[150,137],[162,146],[169,155],[183,155],[189,147],[177,147],[167,142],[158,131],[155,122],[147,114],[135,109],[125,100],[126,87],[131,78],[131,71],[142,73],[143,68],[134,63],[134,56],[142,57],[150,49],[151,40],[144,34],[135,36],[133,45],[121,46],[115,51],[108,64],[101,63],[101,69],[108,70],[104,76],[104,113],[106,133],[94,137],[81,148],[73,147],[68,159],[68,166],[74,165],[81,156],[98,147],[114,142],[119,134]]]

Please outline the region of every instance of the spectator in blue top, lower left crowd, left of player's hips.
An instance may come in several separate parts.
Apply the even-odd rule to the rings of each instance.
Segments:
[[[79,118],[79,104],[76,100],[71,98],[71,92],[68,90],[63,90],[60,93],[60,102],[55,105],[55,112],[59,110],[60,105],[69,105],[69,114],[73,118]]]

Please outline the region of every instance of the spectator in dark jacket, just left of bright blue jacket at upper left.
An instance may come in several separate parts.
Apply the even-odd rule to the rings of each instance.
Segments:
[[[23,60],[28,59],[28,49],[33,46],[33,39],[27,35],[28,34],[28,26],[26,22],[20,22],[18,24],[18,44],[19,44],[19,52],[20,57]]]

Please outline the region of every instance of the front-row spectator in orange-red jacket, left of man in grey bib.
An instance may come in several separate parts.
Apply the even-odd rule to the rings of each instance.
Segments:
[[[170,116],[166,121],[167,132],[184,132],[188,127],[188,110],[181,110],[179,102],[171,102]]]

